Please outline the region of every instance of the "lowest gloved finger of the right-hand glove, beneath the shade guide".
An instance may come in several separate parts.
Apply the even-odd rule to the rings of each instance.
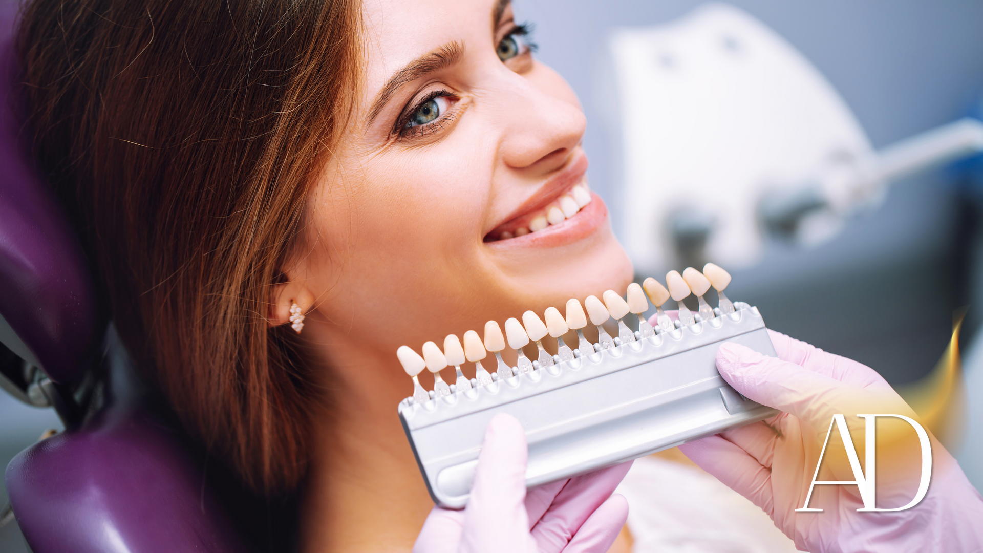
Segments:
[[[772,471],[762,466],[736,444],[720,436],[679,446],[679,450],[728,488],[741,494],[771,516],[775,511]]]

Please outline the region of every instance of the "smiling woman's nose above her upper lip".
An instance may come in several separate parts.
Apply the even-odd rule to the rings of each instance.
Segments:
[[[526,81],[510,94],[512,109],[506,110],[511,114],[500,147],[509,167],[559,168],[584,136],[587,119],[576,96],[558,76],[553,78],[558,82]]]

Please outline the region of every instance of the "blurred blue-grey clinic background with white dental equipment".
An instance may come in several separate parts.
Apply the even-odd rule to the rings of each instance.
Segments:
[[[769,327],[893,385],[935,366],[963,307],[972,347],[983,163],[885,179],[870,160],[980,116],[983,2],[515,3],[581,98],[591,186],[639,276],[715,261]],[[0,465],[48,428],[53,411],[0,394]],[[16,522],[0,551],[27,551]]]

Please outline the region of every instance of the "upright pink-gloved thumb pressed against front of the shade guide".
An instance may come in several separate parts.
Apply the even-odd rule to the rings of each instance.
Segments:
[[[464,510],[461,551],[529,551],[526,433],[514,416],[492,417]],[[493,523],[490,523],[492,522]]]

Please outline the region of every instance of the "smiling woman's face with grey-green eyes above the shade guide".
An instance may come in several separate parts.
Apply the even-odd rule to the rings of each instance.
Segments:
[[[533,59],[511,7],[367,0],[364,13],[361,105],[318,183],[294,271],[315,298],[316,336],[395,363],[404,343],[419,351],[483,335],[490,319],[623,291],[632,268],[607,208],[593,193],[581,207],[574,190],[587,187],[584,114]],[[522,234],[543,217],[554,224]]]

